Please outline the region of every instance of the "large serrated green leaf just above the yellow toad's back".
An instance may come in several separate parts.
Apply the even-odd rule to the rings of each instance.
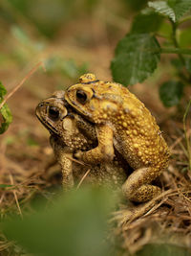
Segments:
[[[159,58],[160,47],[155,36],[126,35],[118,42],[111,63],[114,81],[124,85],[144,81],[157,68]]]

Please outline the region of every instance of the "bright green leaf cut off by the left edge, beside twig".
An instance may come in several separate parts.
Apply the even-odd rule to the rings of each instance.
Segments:
[[[6,95],[7,90],[3,86],[3,84],[0,82],[0,104],[3,101],[4,96]],[[10,126],[11,121],[12,121],[12,116],[11,116],[11,110],[7,104],[3,105],[2,108],[0,109],[0,113],[2,116],[3,121],[1,122],[1,127],[0,127],[0,134],[4,133],[7,128]]]

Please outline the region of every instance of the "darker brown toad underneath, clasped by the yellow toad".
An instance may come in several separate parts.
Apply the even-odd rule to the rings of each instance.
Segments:
[[[50,142],[61,167],[64,189],[73,188],[74,181],[80,180],[87,171],[89,175],[86,177],[86,182],[107,183],[118,187],[127,176],[119,157],[111,163],[101,163],[94,167],[80,165],[72,160],[74,151],[87,151],[96,147],[96,129],[74,113],[63,97],[63,91],[56,91],[52,97],[37,105],[36,115],[52,134]]]

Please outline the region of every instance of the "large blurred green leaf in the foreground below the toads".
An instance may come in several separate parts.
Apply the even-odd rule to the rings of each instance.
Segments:
[[[3,229],[30,253],[46,256],[106,256],[107,217],[114,198],[106,190],[83,188],[62,195],[51,207],[24,220],[5,221]]]

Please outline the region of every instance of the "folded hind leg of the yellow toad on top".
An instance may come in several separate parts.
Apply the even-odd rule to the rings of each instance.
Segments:
[[[122,186],[124,196],[137,202],[144,202],[157,197],[161,193],[160,188],[149,183],[159,174],[159,171],[152,171],[151,168],[140,168],[134,171]]]

